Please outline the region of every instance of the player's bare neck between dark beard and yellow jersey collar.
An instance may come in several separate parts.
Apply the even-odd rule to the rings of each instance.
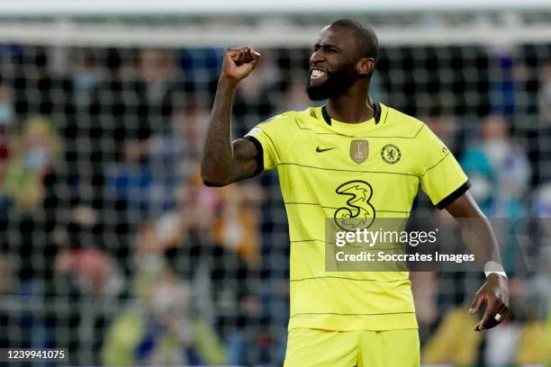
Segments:
[[[375,115],[375,109],[369,95],[369,85],[352,85],[346,94],[330,99],[327,112],[332,119],[346,123],[371,119]]]

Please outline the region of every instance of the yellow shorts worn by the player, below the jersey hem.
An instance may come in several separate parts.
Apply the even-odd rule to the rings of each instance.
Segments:
[[[289,330],[284,367],[418,367],[417,329],[387,331]]]

